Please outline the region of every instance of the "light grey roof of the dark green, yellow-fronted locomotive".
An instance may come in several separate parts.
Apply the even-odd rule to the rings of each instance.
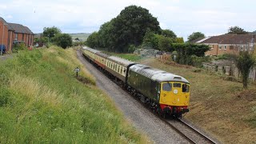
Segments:
[[[142,65],[142,64],[136,64],[134,66],[130,66],[130,70],[137,72],[138,74],[142,74],[145,77],[158,82],[176,81],[176,82],[189,83],[186,80],[186,78],[182,78],[181,76],[171,74],[166,71],[158,70],[153,67]]]

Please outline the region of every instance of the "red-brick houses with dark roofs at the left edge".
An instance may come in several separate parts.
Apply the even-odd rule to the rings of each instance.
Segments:
[[[21,42],[27,47],[33,46],[34,33],[27,26],[9,23],[0,17],[0,45],[6,46],[6,51],[11,51],[14,43]]]

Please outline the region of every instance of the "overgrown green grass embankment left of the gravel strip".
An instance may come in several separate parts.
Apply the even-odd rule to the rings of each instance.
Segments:
[[[146,142],[94,85],[72,49],[21,51],[1,62],[0,143]]]

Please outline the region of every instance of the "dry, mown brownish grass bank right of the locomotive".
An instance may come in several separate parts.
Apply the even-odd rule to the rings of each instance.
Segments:
[[[242,83],[157,59],[142,60],[149,66],[181,75],[191,84],[190,112],[184,118],[200,126],[224,143],[256,142],[256,86],[242,89]]]

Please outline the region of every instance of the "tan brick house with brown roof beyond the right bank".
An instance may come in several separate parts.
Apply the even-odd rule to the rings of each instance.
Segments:
[[[210,46],[206,55],[234,54],[239,50],[254,50],[256,46],[256,35],[254,34],[222,34],[218,36],[203,38],[197,44]]]

